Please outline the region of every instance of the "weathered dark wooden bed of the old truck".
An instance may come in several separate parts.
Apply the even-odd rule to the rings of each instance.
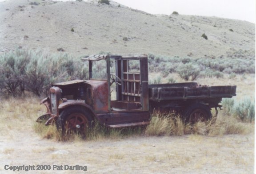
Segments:
[[[201,86],[196,82],[148,85],[150,101],[230,98],[236,86]]]

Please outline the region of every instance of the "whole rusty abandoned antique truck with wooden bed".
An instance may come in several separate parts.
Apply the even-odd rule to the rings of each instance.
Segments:
[[[88,63],[88,80],[52,84],[49,97],[40,103],[47,113],[37,121],[56,123],[62,131],[84,131],[93,120],[110,128],[144,126],[154,109],[179,112],[185,121],[205,121],[211,108],[221,107],[224,97],[236,96],[236,86],[201,86],[196,82],[148,85],[148,57],[94,55]],[[106,65],[105,79],[93,78]],[[136,66],[135,66],[136,65]],[[95,72],[93,72],[93,70]]]

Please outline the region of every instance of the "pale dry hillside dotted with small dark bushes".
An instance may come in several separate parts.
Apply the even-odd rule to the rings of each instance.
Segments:
[[[101,51],[180,57],[255,55],[254,23],[152,15],[115,2],[8,0],[0,2],[0,23],[0,52],[22,46],[50,52],[62,48],[75,56]],[[207,40],[201,37],[204,33]]]

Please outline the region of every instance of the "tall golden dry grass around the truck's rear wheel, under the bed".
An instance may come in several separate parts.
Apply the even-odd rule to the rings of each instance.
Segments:
[[[208,135],[222,136],[227,134],[247,135],[254,131],[253,123],[243,123],[234,116],[225,116],[220,112],[219,116],[212,117],[207,122],[185,124],[180,116],[174,114],[162,114],[154,112],[151,123],[145,130],[145,135]]]

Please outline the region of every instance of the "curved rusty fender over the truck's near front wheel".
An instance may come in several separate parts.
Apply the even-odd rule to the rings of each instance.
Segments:
[[[66,101],[59,105],[59,113],[61,113],[65,108],[72,107],[72,106],[82,106],[92,112],[93,116],[96,117],[96,113],[93,111],[92,107],[88,104],[84,103],[84,101]]]

